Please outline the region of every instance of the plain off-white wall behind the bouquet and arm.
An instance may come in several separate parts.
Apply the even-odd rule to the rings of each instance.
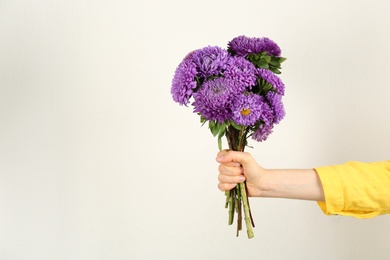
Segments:
[[[390,218],[253,199],[235,237],[216,140],[171,100],[190,50],[267,36],[287,116],[265,167],[390,154],[390,4],[0,1],[0,259],[388,259]]]

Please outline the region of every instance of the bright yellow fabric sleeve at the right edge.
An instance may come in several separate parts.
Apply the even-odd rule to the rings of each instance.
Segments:
[[[318,202],[326,215],[371,218],[390,213],[390,161],[315,168],[325,202]]]

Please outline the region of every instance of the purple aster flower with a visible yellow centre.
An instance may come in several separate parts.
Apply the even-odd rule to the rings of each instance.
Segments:
[[[257,121],[272,123],[274,115],[272,109],[265,102],[264,97],[247,93],[236,96],[232,106],[233,120],[238,125],[255,125]]]

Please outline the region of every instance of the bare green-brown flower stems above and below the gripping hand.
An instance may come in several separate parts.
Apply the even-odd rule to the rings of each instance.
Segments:
[[[229,149],[233,151],[243,152],[246,146],[246,139],[248,134],[248,128],[241,126],[240,130],[230,125],[226,129],[226,139],[229,145]],[[234,222],[234,215],[237,213],[237,232],[242,230],[242,212],[244,212],[244,220],[247,229],[248,238],[253,238],[253,223],[252,213],[249,206],[249,200],[246,189],[246,182],[239,183],[235,188],[225,192],[226,203],[225,208],[229,209],[229,221],[228,224],[232,225]]]

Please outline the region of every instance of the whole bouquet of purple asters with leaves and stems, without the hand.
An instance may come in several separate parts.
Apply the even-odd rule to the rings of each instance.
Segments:
[[[211,133],[226,136],[229,149],[244,151],[248,138],[265,141],[275,124],[284,117],[282,103],[284,84],[280,74],[279,46],[268,38],[238,36],[227,50],[208,46],[190,52],[177,67],[171,87],[173,100],[191,105],[200,122],[208,122]],[[229,225],[237,213],[237,236],[242,230],[242,211],[249,238],[253,234],[253,218],[246,184],[226,192]]]

